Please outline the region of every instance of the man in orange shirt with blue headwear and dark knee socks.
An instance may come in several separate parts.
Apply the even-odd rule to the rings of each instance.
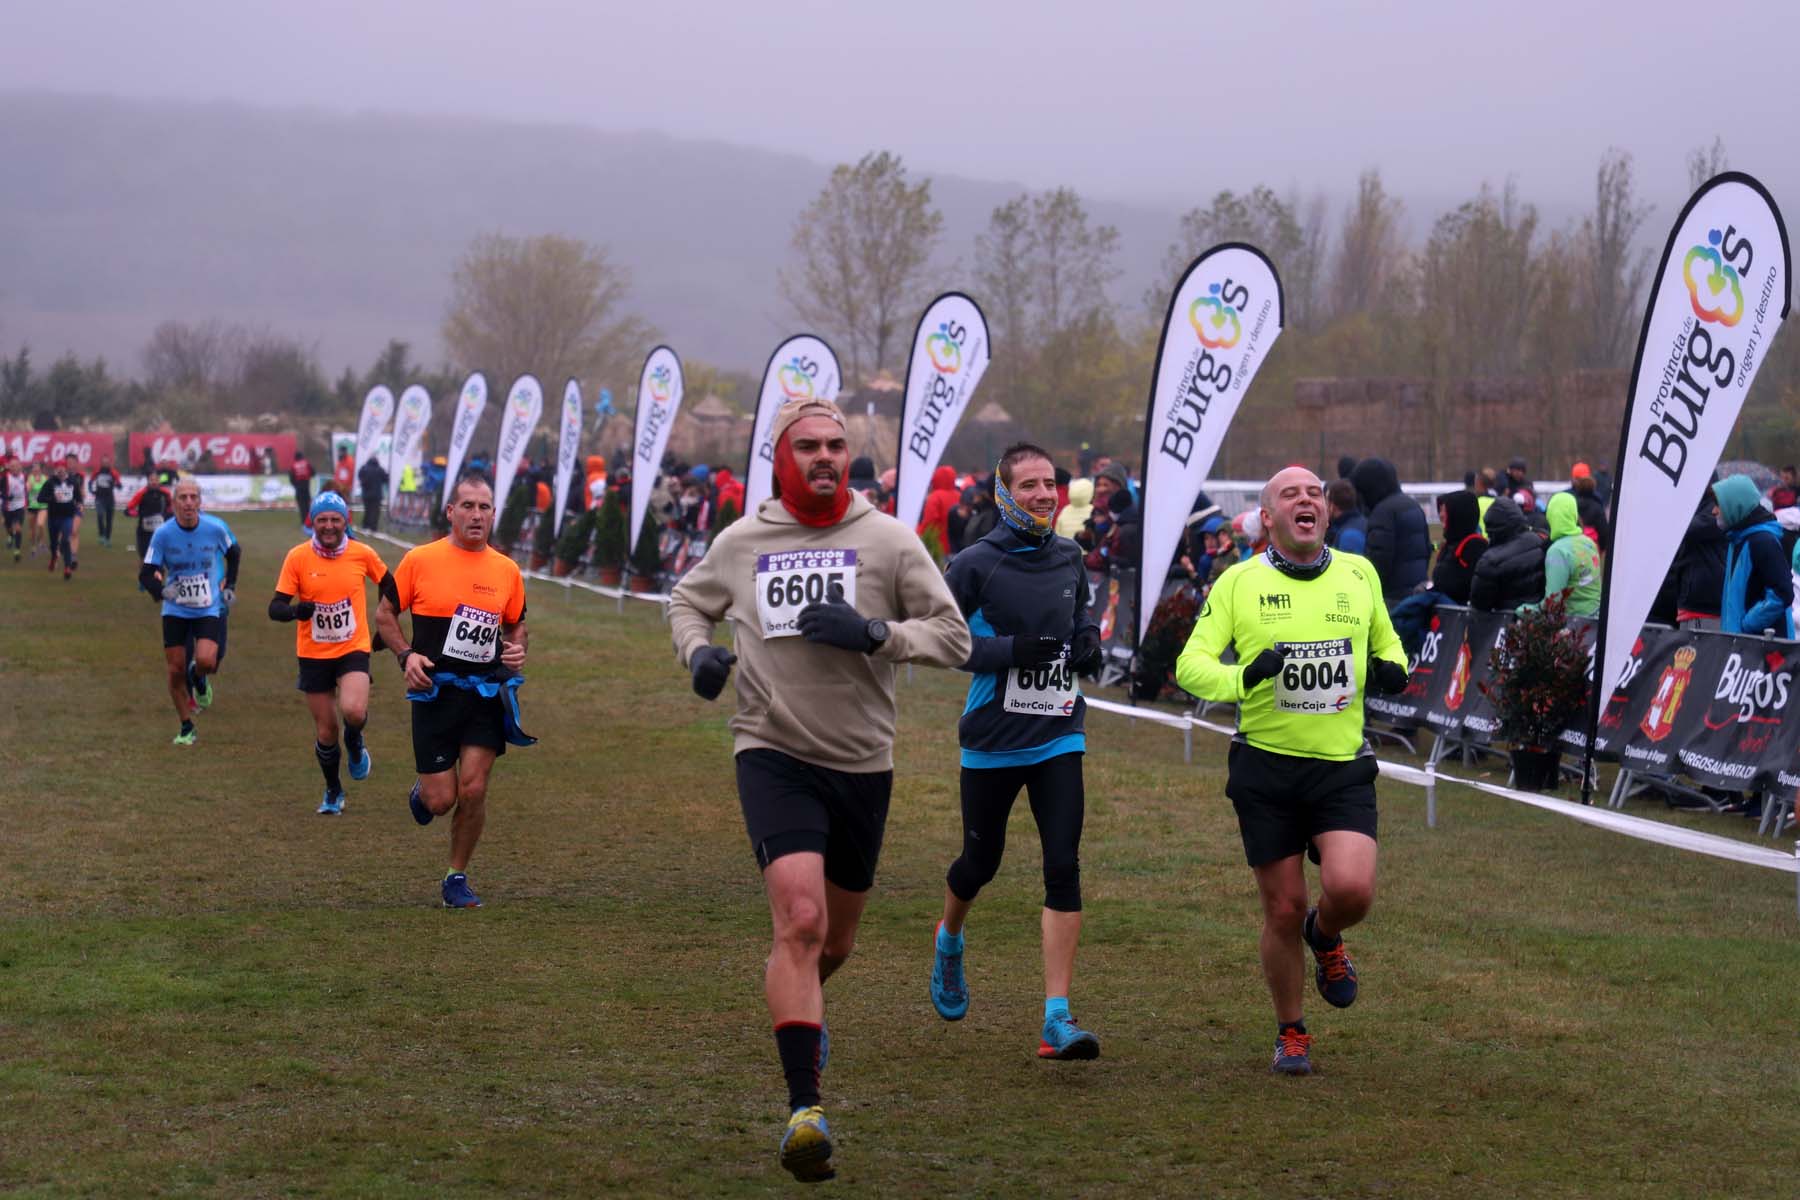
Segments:
[[[344,781],[338,766],[349,750],[349,777],[369,777],[369,748],[362,727],[369,720],[369,612],[364,579],[383,596],[394,590],[382,556],[349,536],[349,506],[335,491],[313,500],[308,518],[313,536],[281,561],[270,621],[293,621],[293,653],[301,660],[299,689],[313,714],[313,754],[326,777],[319,815],[344,811]],[[337,703],[333,705],[333,693]],[[344,718],[344,750],[338,748],[338,716]]]

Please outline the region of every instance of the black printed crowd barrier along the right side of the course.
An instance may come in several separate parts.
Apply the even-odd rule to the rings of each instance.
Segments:
[[[1593,622],[1573,617],[1570,626],[1586,637],[1591,685]],[[1492,741],[1498,720],[1481,684],[1505,628],[1503,613],[1438,606],[1408,689],[1366,696],[1368,711],[1395,725]],[[1787,705],[1796,673],[1800,642],[1645,626],[1624,684],[1600,711],[1595,757],[1708,788],[1800,786],[1800,711]],[[1586,741],[1584,729],[1562,730],[1562,745],[1577,754]]]

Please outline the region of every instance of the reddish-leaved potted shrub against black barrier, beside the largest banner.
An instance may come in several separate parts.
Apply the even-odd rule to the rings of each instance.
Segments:
[[[1562,730],[1588,709],[1588,646],[1571,630],[1561,596],[1521,608],[1489,657],[1481,693],[1494,703],[1503,739],[1512,743],[1512,784],[1523,792],[1557,786]]]

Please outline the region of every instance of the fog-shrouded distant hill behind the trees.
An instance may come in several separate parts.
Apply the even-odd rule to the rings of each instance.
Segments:
[[[776,272],[828,173],[659,133],[0,94],[0,349],[137,374],[157,322],[220,317],[317,342],[328,374],[389,336],[437,362],[470,237],[560,232],[630,266],[632,308],[684,356],[756,372],[794,324]],[[934,176],[945,288],[1019,191]],[[1136,306],[1177,212],[1089,210],[1120,228],[1116,299]]]

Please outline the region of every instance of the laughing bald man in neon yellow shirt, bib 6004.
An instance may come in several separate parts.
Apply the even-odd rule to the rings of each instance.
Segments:
[[[1201,608],[1175,682],[1238,705],[1226,795],[1262,896],[1262,973],[1274,1000],[1271,1069],[1310,1074],[1301,1018],[1301,939],[1327,1004],[1355,1000],[1343,930],[1375,898],[1375,757],[1363,741],[1363,691],[1406,689],[1406,651],[1381,579],[1359,554],[1325,545],[1325,484],[1287,468],[1262,489],[1269,549],[1226,570]],[[1237,662],[1220,653],[1237,649]],[[1307,907],[1301,855],[1319,864]]]

